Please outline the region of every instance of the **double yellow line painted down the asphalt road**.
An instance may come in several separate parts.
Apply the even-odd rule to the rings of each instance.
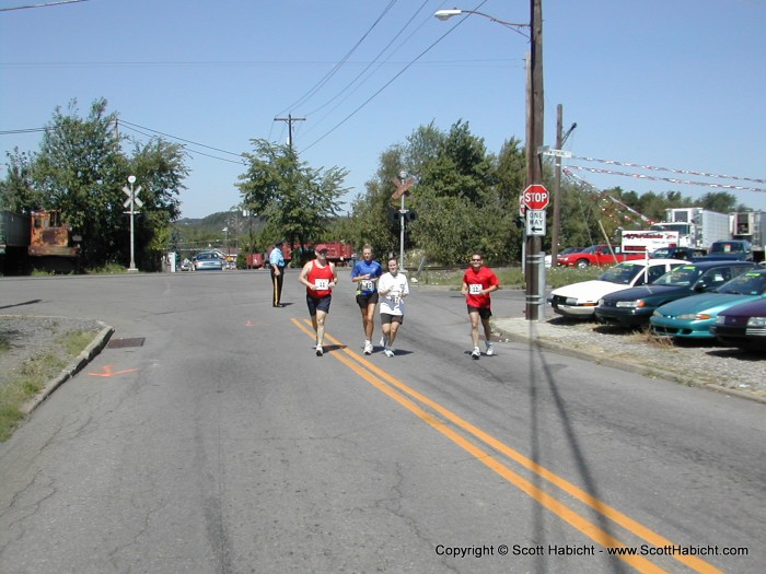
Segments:
[[[300,320],[293,318],[292,323],[295,326],[298,326],[298,328],[300,328],[303,332],[305,332],[309,337],[315,338],[315,333],[313,328],[311,327],[310,321],[305,320],[301,323]],[[344,365],[348,366],[351,371],[357,373],[360,377],[370,383],[381,393],[385,394],[386,396],[405,407],[407,410],[420,418],[423,422],[428,423],[430,426],[432,426],[433,429],[442,433],[444,436],[446,436],[454,444],[473,455],[479,462],[489,467],[491,470],[497,472],[508,482],[520,489],[522,492],[525,492],[537,503],[546,507],[559,518],[569,523],[571,526],[580,530],[587,537],[591,538],[597,544],[604,548],[627,547],[627,544],[616,539],[603,528],[588,520],[558,499],[548,494],[541,488],[526,480],[521,475],[511,470],[507,465],[504,465],[501,460],[496,458],[492,454],[481,449],[474,443],[469,442],[465,436],[457,433],[453,426],[463,430],[464,432],[468,433],[471,436],[477,438],[490,448],[494,448],[495,450],[501,453],[502,455],[507,456],[508,458],[521,465],[522,467],[531,470],[539,478],[548,481],[550,484],[566,492],[568,495],[590,506],[602,516],[608,518],[613,523],[619,525],[620,527],[625,528],[636,537],[641,538],[646,542],[658,548],[666,546],[678,546],[672,542],[671,540],[664,538],[663,536],[654,532],[653,530],[647,528],[640,523],[634,520],[632,518],[629,518],[625,514],[620,513],[619,511],[610,506],[603,501],[600,501],[595,496],[592,496],[579,487],[552,472],[547,468],[538,465],[534,460],[525,457],[518,450],[514,450],[510,446],[501,443],[500,441],[481,431],[477,426],[474,426],[469,422],[460,418],[452,411],[432,401],[425,395],[421,395],[417,390],[408,387],[396,377],[391,376],[385,371],[375,366],[362,355],[351,351],[347,345],[343,344],[339,340],[335,339],[334,337],[330,337],[329,335],[325,333],[325,339],[332,342],[333,344],[338,345],[338,350],[340,351],[326,353],[326,356],[333,356],[334,359],[340,361]],[[438,417],[434,417],[423,407],[427,407],[428,409],[431,409],[431,411],[443,417],[443,420]],[[634,569],[636,569],[639,572],[665,572],[661,567],[657,566],[655,564],[640,555],[618,555],[617,558],[630,564]],[[709,564],[708,562],[705,562],[704,560],[700,560],[696,557],[674,554],[672,558],[688,566],[695,572],[723,574],[722,571],[718,570],[712,564]]]

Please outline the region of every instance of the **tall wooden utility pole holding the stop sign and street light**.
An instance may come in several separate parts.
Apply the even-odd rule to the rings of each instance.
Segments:
[[[527,147],[526,186],[543,185],[543,165],[539,155],[543,148],[543,1],[530,0],[531,55],[530,86],[527,91]],[[526,320],[538,320],[545,297],[541,293],[541,268],[543,239],[537,235],[526,237]],[[543,289],[545,285],[543,285]]]

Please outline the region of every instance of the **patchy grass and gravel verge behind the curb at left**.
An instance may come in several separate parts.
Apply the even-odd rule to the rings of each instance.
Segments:
[[[26,360],[0,384],[0,443],[7,441],[24,418],[23,405],[39,393],[93,340],[97,331],[70,331],[56,338],[53,349]],[[10,340],[0,337],[0,350],[8,350]]]

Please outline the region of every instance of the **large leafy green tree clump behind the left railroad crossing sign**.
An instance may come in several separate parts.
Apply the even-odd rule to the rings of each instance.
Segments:
[[[62,220],[82,236],[85,267],[127,265],[129,220],[121,189],[127,176],[135,175],[143,202],[136,219],[136,261],[151,269],[170,241],[171,222],[178,218],[175,196],[188,174],[185,154],[179,145],[154,139],[135,144],[134,155],[127,156],[113,131],[117,114],[108,114],[106,107],[105,99],[96,99],[84,118],[77,101],[66,112],[57,107],[37,153],[9,154],[0,190],[9,209],[60,210]]]

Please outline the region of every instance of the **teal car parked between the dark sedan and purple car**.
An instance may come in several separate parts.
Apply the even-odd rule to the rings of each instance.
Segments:
[[[649,321],[655,335],[713,339],[710,327],[722,311],[766,298],[766,269],[754,269],[723,283],[716,291],[673,301],[658,307]]]

